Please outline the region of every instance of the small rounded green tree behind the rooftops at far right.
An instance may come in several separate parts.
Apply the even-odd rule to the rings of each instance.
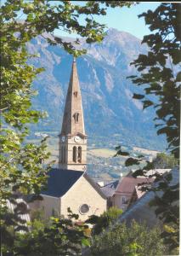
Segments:
[[[178,166],[178,160],[174,158],[173,154],[159,153],[153,160],[154,168],[169,169]]]

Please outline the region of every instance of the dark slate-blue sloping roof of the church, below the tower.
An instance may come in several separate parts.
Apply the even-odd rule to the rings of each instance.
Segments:
[[[61,197],[71,189],[74,183],[82,177],[84,172],[73,170],[52,169],[48,175],[47,189],[42,191],[42,195]]]

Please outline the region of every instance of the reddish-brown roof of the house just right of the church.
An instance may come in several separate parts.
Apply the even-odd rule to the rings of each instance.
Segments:
[[[138,186],[139,183],[152,183],[153,181],[153,178],[123,177],[121,183],[118,184],[115,193],[132,194],[135,186]]]

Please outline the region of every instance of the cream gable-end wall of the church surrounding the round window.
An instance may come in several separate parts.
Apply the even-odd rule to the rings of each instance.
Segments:
[[[80,207],[87,204],[89,211],[86,214],[80,212]],[[61,214],[67,216],[67,207],[79,215],[80,220],[86,220],[90,215],[100,215],[107,209],[107,201],[88,183],[85,177],[81,177],[71,189],[61,198]]]

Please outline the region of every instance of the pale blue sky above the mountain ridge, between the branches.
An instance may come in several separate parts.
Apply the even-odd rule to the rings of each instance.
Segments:
[[[79,1],[81,3],[81,1]],[[119,31],[130,32],[135,37],[142,39],[145,34],[149,34],[148,26],[145,26],[144,18],[138,18],[138,15],[147,11],[154,10],[159,6],[159,2],[155,3],[139,3],[132,5],[130,8],[108,8],[106,16],[96,17],[96,21],[106,24],[106,26],[116,28]],[[67,34],[65,32],[55,32],[61,36],[76,37],[75,34]]]

